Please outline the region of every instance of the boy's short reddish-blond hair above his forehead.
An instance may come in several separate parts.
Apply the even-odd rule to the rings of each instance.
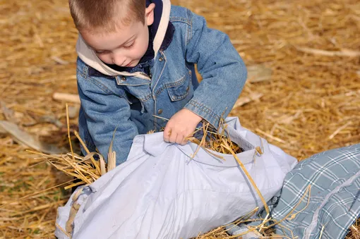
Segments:
[[[68,0],[76,28],[92,32],[113,32],[133,20],[145,24],[145,0]]]

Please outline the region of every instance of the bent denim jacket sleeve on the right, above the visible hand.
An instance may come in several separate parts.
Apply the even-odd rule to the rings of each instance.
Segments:
[[[246,66],[229,37],[208,28],[203,17],[191,13],[191,27],[186,61],[197,63],[203,80],[185,108],[217,128],[220,118],[227,117],[244,87]]]

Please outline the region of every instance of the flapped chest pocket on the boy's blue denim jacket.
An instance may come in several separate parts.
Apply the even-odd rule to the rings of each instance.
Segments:
[[[186,74],[184,77],[176,80],[175,82],[165,84],[167,93],[169,94],[172,102],[185,99],[191,90],[191,74]]]

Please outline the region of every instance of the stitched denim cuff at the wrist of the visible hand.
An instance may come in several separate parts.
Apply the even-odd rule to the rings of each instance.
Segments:
[[[205,106],[204,104],[201,104],[199,102],[196,102],[196,100],[191,99],[184,108],[197,114],[205,121],[208,121],[213,127],[218,128],[220,115],[216,114],[208,106]]]

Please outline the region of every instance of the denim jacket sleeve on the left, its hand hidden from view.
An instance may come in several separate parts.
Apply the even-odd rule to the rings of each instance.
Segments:
[[[116,166],[124,163],[130,152],[138,128],[130,120],[130,105],[126,98],[110,92],[100,82],[78,75],[78,93],[85,114],[85,123],[92,141],[104,159],[107,159],[112,136],[116,129],[113,150]]]

